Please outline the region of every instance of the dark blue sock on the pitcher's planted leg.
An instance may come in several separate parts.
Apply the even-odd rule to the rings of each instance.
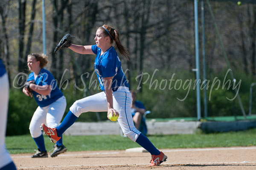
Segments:
[[[140,133],[136,142],[137,142],[137,144],[142,146],[145,150],[147,150],[151,155],[159,155],[160,154],[160,151],[142,133]]]

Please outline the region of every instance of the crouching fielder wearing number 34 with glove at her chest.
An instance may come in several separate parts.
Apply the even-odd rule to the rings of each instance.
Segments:
[[[49,127],[58,127],[64,115],[67,102],[55,81],[53,75],[44,67],[47,65],[47,56],[42,54],[28,55],[27,65],[32,73],[24,85],[23,93],[34,96],[38,104],[31,119],[29,130],[32,138],[38,146],[38,151],[32,158],[47,158],[47,150],[44,145],[44,136],[40,125],[47,124]],[[62,144],[62,138],[54,145],[51,157],[64,153],[67,148]]]

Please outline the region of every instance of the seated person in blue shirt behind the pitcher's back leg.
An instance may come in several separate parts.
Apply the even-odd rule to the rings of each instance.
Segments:
[[[145,113],[146,109],[144,104],[141,101],[136,100],[136,92],[134,90],[131,90],[131,97],[132,97],[131,115],[132,115],[136,129],[139,130],[142,116]]]

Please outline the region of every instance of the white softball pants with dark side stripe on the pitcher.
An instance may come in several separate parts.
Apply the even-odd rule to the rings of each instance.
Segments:
[[[135,128],[131,116],[132,98],[129,88],[119,87],[116,92],[112,92],[112,96],[113,108],[119,112],[117,121],[119,122],[122,132],[135,142],[140,135],[140,131]],[[107,112],[108,104],[105,92],[77,100],[70,107],[70,111],[76,115],[76,117],[79,117],[81,113],[84,112]]]

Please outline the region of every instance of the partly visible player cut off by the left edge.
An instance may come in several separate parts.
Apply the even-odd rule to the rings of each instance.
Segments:
[[[0,59],[0,84],[0,170],[16,170],[15,164],[5,147],[9,104],[9,81],[2,59]]]

